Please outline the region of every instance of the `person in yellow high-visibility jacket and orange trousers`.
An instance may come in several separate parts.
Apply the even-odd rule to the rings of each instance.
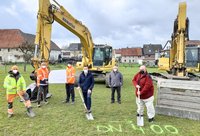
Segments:
[[[10,118],[13,116],[13,101],[17,96],[20,96],[23,100],[27,108],[28,116],[34,117],[35,114],[32,111],[29,95],[26,93],[26,82],[23,76],[19,73],[19,68],[14,65],[8,73],[9,75],[6,76],[3,84],[6,89],[8,101],[8,117]]]

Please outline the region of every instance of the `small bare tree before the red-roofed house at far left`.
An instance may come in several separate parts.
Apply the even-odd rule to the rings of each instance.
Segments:
[[[35,46],[32,43],[24,42],[19,46],[20,51],[23,53],[24,58],[24,71],[26,71],[26,64],[30,62],[31,58],[33,57]]]

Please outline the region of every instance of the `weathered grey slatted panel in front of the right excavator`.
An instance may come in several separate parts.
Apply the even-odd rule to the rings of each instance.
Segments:
[[[156,113],[200,120],[200,82],[157,79]]]

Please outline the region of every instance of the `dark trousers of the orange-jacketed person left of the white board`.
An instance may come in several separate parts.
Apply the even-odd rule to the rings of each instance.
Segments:
[[[43,98],[43,100],[46,102],[46,96],[47,96],[47,90],[48,90],[48,85],[45,86],[39,86],[38,88],[38,94],[37,94],[37,101],[38,104],[40,104],[41,101],[41,97]]]

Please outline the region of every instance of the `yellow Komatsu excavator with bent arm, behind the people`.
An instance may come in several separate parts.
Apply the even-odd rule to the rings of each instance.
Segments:
[[[76,64],[76,68],[82,69],[87,65],[94,77],[106,79],[115,65],[112,47],[94,45],[88,28],[58,2],[53,1],[55,4],[51,4],[49,0],[39,0],[35,53],[32,59],[35,70],[38,69],[41,61],[49,62],[52,24],[56,21],[80,38],[83,58],[82,62]]]

